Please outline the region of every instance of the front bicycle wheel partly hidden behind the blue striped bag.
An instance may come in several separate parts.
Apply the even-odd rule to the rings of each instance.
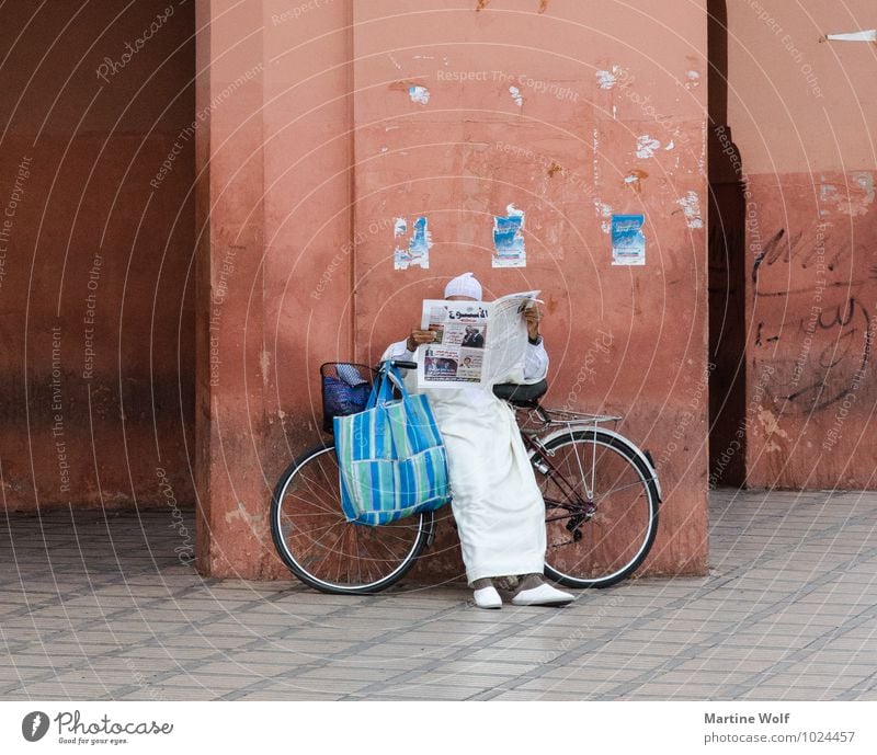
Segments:
[[[271,500],[271,534],[283,562],[323,593],[363,595],[398,582],[432,533],[431,512],[380,527],[352,524],[341,512],[333,443],[299,456]]]

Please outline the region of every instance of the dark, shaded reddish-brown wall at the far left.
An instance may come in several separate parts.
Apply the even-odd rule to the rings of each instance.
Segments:
[[[194,150],[181,137],[194,11],[167,8],[0,5],[0,483],[12,511],[194,497]]]

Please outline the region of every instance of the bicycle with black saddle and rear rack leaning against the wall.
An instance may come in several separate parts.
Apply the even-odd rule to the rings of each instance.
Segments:
[[[410,362],[388,365],[412,369]],[[367,369],[367,368],[365,368]],[[633,574],[658,529],[661,488],[648,451],[604,425],[620,416],[546,409],[545,380],[494,386],[516,411],[546,510],[545,573],[568,587],[608,587]],[[324,593],[377,593],[401,580],[432,545],[434,514],[366,527],[341,512],[334,441],[298,456],[271,500],[271,533],[283,562]]]

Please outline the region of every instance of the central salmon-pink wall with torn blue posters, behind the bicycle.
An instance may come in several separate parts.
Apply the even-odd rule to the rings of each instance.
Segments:
[[[471,270],[543,289],[549,401],[625,414],[667,493],[650,569],[702,572],[703,8],[205,1],[198,25],[198,107],[250,72],[198,144],[200,301],[225,289],[213,329],[198,313],[201,568],[283,574],[270,485],[319,435],[319,364],[376,359]],[[494,268],[511,204],[527,264]],[[645,214],[645,266],[611,264],[612,213]],[[428,218],[429,270],[394,268],[399,217]],[[446,526],[421,576],[460,574]]]

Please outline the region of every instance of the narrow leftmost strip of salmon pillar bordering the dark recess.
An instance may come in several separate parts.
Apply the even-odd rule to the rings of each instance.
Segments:
[[[267,553],[261,3],[204,0],[196,24],[197,565],[257,576]]]

